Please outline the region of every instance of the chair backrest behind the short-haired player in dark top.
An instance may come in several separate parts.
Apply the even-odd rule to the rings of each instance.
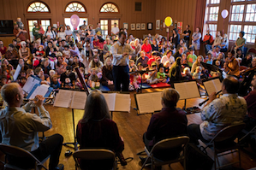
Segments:
[[[164,150],[164,149],[175,149],[181,147],[181,151],[188,144],[189,138],[187,136],[176,137],[176,138],[166,138],[159,141],[152,148],[152,152]]]

